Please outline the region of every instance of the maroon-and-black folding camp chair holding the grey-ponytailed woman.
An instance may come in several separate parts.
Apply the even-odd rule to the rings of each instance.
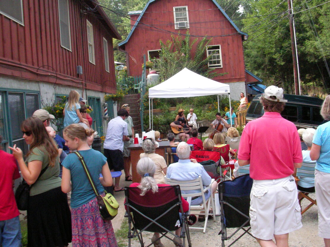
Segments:
[[[142,232],[160,233],[160,237],[166,237],[173,241],[166,234],[170,233],[175,237],[182,238],[182,245],[185,246],[185,237],[187,236],[188,246],[191,247],[189,228],[187,219],[189,214],[179,214],[183,212],[181,191],[179,185],[158,187],[158,192],[152,193],[149,190],[144,196],[140,196],[140,189],[136,187],[125,187],[125,208],[128,217],[128,246],[131,246],[131,239],[138,237],[141,247],[144,247]],[[175,231],[177,221],[181,222],[181,234],[178,236]],[[146,247],[152,245],[153,242]]]

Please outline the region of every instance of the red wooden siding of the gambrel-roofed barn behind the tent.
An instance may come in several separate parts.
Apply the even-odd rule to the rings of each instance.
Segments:
[[[160,49],[159,40],[163,42],[170,40],[171,33],[167,31],[186,33],[188,29],[179,30],[174,27],[173,7],[178,6],[188,6],[189,33],[191,36],[201,36],[198,38],[199,40],[204,36],[218,36],[210,42],[210,45],[221,45],[222,68],[216,69],[216,71],[219,73],[227,72],[228,74],[213,79],[220,82],[245,81],[242,34],[237,33],[236,29],[220,10],[216,9],[211,0],[158,0],[149,4],[146,13],[143,14],[129,41],[123,45],[130,56],[130,75],[141,75],[143,54],[148,57],[148,50]],[[191,37],[191,40],[195,38]],[[194,52],[196,45],[197,43],[195,43],[192,52]]]

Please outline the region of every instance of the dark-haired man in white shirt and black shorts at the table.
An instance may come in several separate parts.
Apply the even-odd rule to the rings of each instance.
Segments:
[[[129,141],[127,123],[124,121],[128,117],[128,112],[125,109],[120,109],[117,112],[117,117],[110,120],[107,128],[107,135],[104,140],[104,155],[107,157],[107,162],[110,171],[117,172],[124,169],[123,148],[124,141]],[[114,191],[122,191],[124,188],[119,187],[120,177],[115,178]]]

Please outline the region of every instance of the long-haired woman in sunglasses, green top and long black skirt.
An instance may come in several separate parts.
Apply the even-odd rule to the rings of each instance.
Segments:
[[[9,147],[24,180],[30,185],[27,208],[28,247],[67,246],[71,242],[71,213],[67,195],[61,191],[58,151],[43,122],[35,117],[21,126],[30,150]],[[39,175],[42,175],[39,177]]]

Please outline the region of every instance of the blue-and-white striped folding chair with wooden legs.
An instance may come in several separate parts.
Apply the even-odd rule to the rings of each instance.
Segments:
[[[299,201],[300,208],[301,208],[301,201],[304,198],[306,198],[308,201],[311,202],[304,209],[301,208],[301,214],[305,213],[313,205],[317,205],[316,200],[314,200],[308,196],[309,193],[315,192],[314,172],[315,172],[315,163],[308,164],[308,163],[303,162],[302,166],[300,168],[297,168],[296,182],[297,182],[298,191],[299,191],[298,192],[298,201]],[[303,179],[305,181],[305,183],[306,182],[310,183],[310,185],[312,185],[312,186],[310,188],[304,188],[303,186],[301,186],[302,184],[301,184],[300,179]]]

